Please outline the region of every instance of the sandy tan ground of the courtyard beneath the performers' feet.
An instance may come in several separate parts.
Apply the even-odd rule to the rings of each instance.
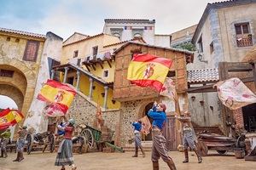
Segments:
[[[244,161],[244,159],[236,159],[230,153],[227,156],[214,155],[211,152],[210,156],[203,158],[203,163],[198,164],[196,156],[192,152],[189,153],[189,163],[183,164],[183,153],[170,152],[176,163],[178,170],[255,170],[256,161]],[[152,169],[150,161],[150,152],[147,152],[146,157],[139,155],[137,158],[131,157],[133,153],[86,153],[83,155],[74,155],[77,170],[150,170]],[[8,158],[0,158],[0,170],[58,170],[60,167],[55,167],[56,153],[41,153],[32,152],[31,155],[25,154],[25,160],[14,162],[15,154],[9,154]],[[67,167],[66,169],[71,169]],[[160,170],[167,170],[166,163],[160,160]]]

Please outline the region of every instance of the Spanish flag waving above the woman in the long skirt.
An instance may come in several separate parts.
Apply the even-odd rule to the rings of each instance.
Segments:
[[[75,90],[66,84],[55,82],[54,80],[47,80],[38,94],[38,99],[58,105],[61,111],[66,113],[68,107],[72,104],[75,94]]]

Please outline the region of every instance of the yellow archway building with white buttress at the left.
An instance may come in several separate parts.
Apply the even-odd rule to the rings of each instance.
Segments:
[[[27,123],[36,131],[42,112],[33,108],[32,100],[49,77],[48,60],[60,59],[61,43],[62,38],[52,32],[41,35],[0,28],[0,94],[14,99],[26,118],[36,117]]]

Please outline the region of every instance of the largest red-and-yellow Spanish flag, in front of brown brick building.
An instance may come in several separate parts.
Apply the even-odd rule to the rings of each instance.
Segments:
[[[133,54],[127,79],[137,86],[152,87],[160,92],[171,65],[171,59],[151,54]]]

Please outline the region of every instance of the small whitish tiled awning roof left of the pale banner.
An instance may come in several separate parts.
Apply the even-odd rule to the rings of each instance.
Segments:
[[[188,82],[218,82],[218,69],[201,69],[195,71],[187,71]]]

